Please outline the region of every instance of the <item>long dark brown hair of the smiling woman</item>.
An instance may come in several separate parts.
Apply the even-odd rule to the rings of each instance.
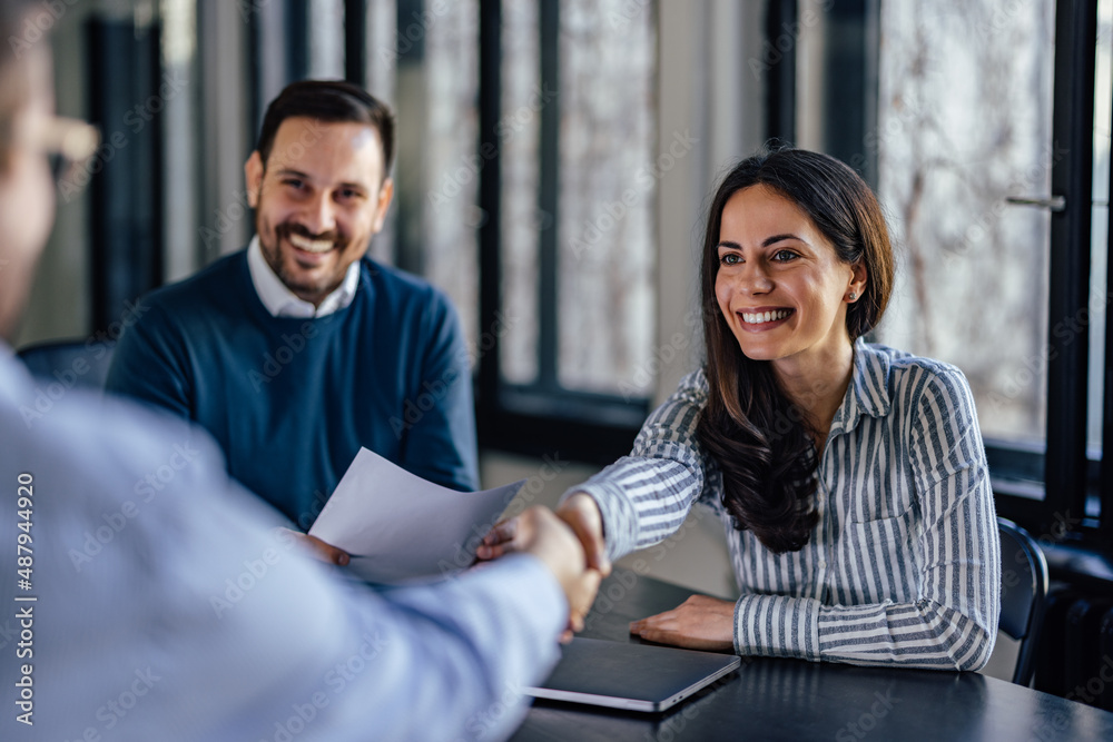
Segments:
[[[797,205],[839,260],[866,267],[863,296],[847,307],[851,343],[881,318],[893,288],[893,250],[869,186],[843,162],[781,149],[739,162],[719,185],[703,237],[701,296],[710,394],[697,436],[722,472],[722,503],[739,531],[776,553],[799,551],[818,522],[816,467],[806,415],[781,392],[767,360],[742,354],[715,293],[722,210],[736,192],[768,186]]]

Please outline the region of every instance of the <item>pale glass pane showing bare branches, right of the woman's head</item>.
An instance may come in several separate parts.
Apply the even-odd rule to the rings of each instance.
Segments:
[[[983,434],[1042,441],[1054,2],[881,4],[879,197],[900,256],[877,339],[954,363]],[[1107,87],[1107,86],[1106,86]]]

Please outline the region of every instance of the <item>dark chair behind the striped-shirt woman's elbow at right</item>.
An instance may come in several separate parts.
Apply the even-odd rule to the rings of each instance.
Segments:
[[[1028,532],[997,518],[1001,532],[1001,631],[1021,642],[1013,682],[1027,686],[1047,595],[1047,560]]]

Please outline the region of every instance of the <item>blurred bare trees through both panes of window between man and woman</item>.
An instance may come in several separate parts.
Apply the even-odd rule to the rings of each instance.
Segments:
[[[502,374],[540,378],[539,234],[555,227],[559,385],[648,395],[638,370],[654,329],[656,14],[652,3],[568,0],[559,16],[560,82],[548,89],[538,3],[502,9]],[[560,111],[556,215],[539,209],[550,106]]]

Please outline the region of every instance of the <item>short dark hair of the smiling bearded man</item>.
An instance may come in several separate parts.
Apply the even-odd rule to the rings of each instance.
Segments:
[[[383,145],[383,178],[394,161],[394,112],[363,88],[341,80],[301,80],[286,86],[267,106],[255,149],[267,165],[278,127],[288,118],[304,117],[329,123],[366,123]]]

